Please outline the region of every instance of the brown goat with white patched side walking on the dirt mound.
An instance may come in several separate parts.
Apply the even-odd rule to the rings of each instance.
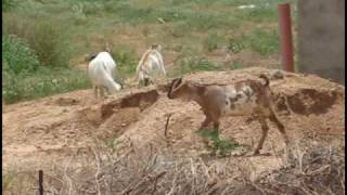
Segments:
[[[228,86],[202,86],[192,81],[182,82],[182,78],[178,78],[172,80],[167,96],[169,99],[193,100],[202,107],[206,118],[200,130],[213,121],[215,130],[218,131],[220,117],[227,115],[256,116],[262,130],[261,139],[254,151],[256,155],[259,154],[268,134],[267,118],[277,125],[285,144],[288,145],[284,126],[274,114],[269,79],[265,75],[260,75],[260,78],[266,80],[265,84],[256,80],[245,80]]]

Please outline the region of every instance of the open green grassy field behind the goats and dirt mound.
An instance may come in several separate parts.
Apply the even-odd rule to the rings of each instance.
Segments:
[[[21,38],[39,62],[39,65],[30,65],[39,70],[30,74],[15,73],[10,77],[7,70],[9,77],[5,78],[10,80],[3,81],[16,83],[14,89],[17,89],[10,90],[10,87],[5,86],[7,94],[12,91],[12,96],[16,96],[7,98],[9,99],[7,102],[10,99],[13,103],[63,91],[60,87],[48,84],[49,80],[54,78],[48,78],[41,75],[42,73],[48,75],[57,73],[61,77],[80,77],[83,81],[77,81],[79,84],[66,89],[87,88],[89,81],[85,73],[68,70],[68,66],[70,62],[78,62],[81,55],[100,50],[104,43],[100,41],[102,39],[117,42],[117,50],[113,52],[113,56],[118,64],[117,75],[120,82],[127,77],[133,77],[140,58],[130,46],[149,43],[151,40],[163,42],[168,52],[183,56],[175,63],[172,69],[168,69],[169,75],[219,70],[221,67],[208,60],[208,52],[217,49],[219,52],[219,49],[227,48],[233,53],[250,50],[259,53],[261,57],[271,57],[279,50],[277,27],[269,25],[269,29],[257,29],[257,25],[277,23],[275,8],[279,2],[283,0],[54,0],[43,3],[31,0],[2,1],[4,5],[2,34]],[[290,2],[296,1],[290,0]],[[256,4],[257,8],[236,9],[237,5],[249,3]],[[127,38],[118,39],[118,35],[126,35],[125,37],[129,35],[130,39],[138,40],[136,43],[131,40],[129,43]],[[233,40],[228,40],[230,37],[233,37]],[[17,52],[17,56],[20,53],[28,55],[25,52]],[[35,62],[28,58],[23,62]],[[20,64],[23,63],[8,61],[3,66],[14,67],[13,64],[22,66]],[[240,66],[240,63],[234,63],[224,68],[235,69]],[[25,65],[23,68],[26,69],[28,66]],[[24,89],[27,87],[22,83],[24,80],[31,86],[44,82],[44,86],[54,89],[30,91]],[[72,83],[60,81],[60,84],[63,88]],[[29,94],[31,92],[38,95]]]

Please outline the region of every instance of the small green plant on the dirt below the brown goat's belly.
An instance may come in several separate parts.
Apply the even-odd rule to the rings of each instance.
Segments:
[[[215,130],[205,129],[198,131],[197,134],[213,142],[211,153],[214,155],[219,154],[220,156],[226,156],[228,153],[240,146],[234,140],[220,139],[218,132]]]

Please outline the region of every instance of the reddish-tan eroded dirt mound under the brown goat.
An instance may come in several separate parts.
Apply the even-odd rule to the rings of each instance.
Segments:
[[[206,72],[184,79],[202,83],[232,83],[271,75],[265,68]],[[277,112],[292,140],[319,138],[344,141],[344,87],[313,75],[284,73],[270,81]],[[164,135],[167,116],[171,116]],[[95,100],[91,90],[75,91],[15,105],[3,112],[4,168],[48,168],[69,156],[90,155],[95,140],[112,142],[123,153],[131,142],[136,148],[151,144],[172,155],[198,156],[205,151],[194,133],[204,119],[193,102],[168,100],[156,87],[127,89],[106,100]],[[319,122],[318,122],[319,121]],[[284,143],[272,123],[264,152],[280,154]],[[249,148],[258,142],[260,125],[249,117],[221,120],[221,136],[234,139]],[[279,167],[275,156],[254,157],[257,170]],[[79,165],[83,161],[74,161]]]

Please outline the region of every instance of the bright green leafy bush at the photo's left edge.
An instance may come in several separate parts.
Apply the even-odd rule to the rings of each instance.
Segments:
[[[2,36],[2,65],[5,73],[24,74],[35,72],[39,61],[25,40]]]

